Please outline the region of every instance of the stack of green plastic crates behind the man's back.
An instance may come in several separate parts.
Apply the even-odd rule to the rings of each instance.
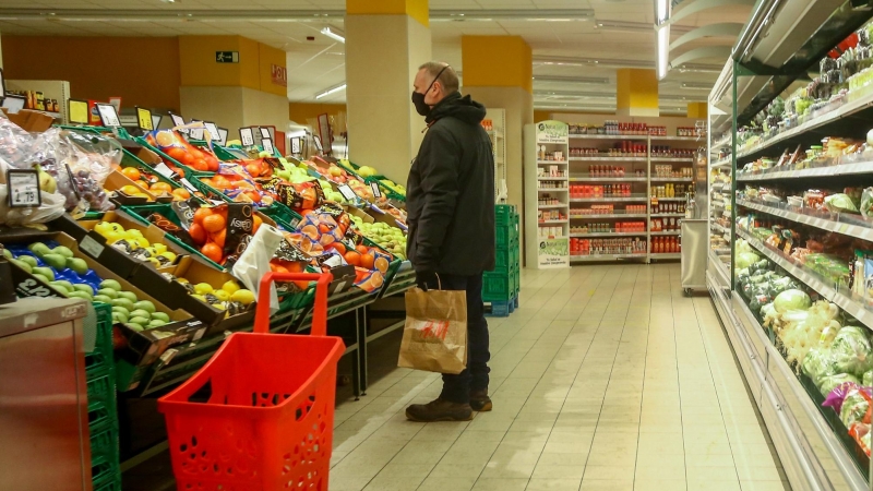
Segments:
[[[491,315],[505,318],[518,308],[521,261],[518,254],[518,212],[515,205],[494,205],[497,250],[494,271],[482,277],[482,301],[491,304]]]

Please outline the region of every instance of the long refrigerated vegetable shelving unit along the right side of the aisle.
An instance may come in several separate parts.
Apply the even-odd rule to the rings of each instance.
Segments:
[[[760,258],[755,280],[757,275],[788,278],[793,290],[833,304],[840,326],[837,336],[846,326],[859,326],[870,338],[873,303],[866,288],[860,295],[850,288],[853,285],[841,276],[845,263],[822,271],[808,259],[829,254],[841,263],[842,252],[815,243],[873,237],[870,219],[857,211],[834,213],[814,202],[815,190],[833,196],[851,192],[844,188],[873,184],[866,152],[852,159],[851,148],[827,147],[835,139],[864,142],[870,130],[873,91],[864,83],[871,76],[864,68],[870,59],[853,59],[841,70],[836,67],[842,60],[835,58],[854,52],[847,48],[851,43],[869,39],[870,27],[863,25],[873,10],[851,2],[789,0],[773,16],[766,11],[755,11],[733,49],[736,58],[709,94],[707,288],[792,489],[870,490],[870,457],[849,434],[846,415],[823,407],[829,386],[812,380],[808,370],[817,368],[803,363],[810,355],[794,351],[796,342],[788,336],[796,327],[787,323],[780,331],[773,328],[773,320],[784,318],[781,312],[775,318],[767,313],[766,302],[781,294],[758,294],[746,274],[752,266],[746,265],[750,254]],[[865,33],[851,41],[859,28]],[[761,34],[752,35],[756,31]],[[841,44],[848,45],[829,53]],[[793,55],[779,65],[761,61],[776,51]],[[792,83],[820,70],[814,86],[804,87],[799,97],[777,99]],[[805,83],[796,86],[800,85]],[[818,92],[823,88],[828,91]],[[822,148],[817,145],[825,136]],[[814,250],[806,255],[806,248]],[[856,248],[860,249],[865,247]],[[853,280],[869,282],[870,273]],[[825,336],[813,348],[824,354],[832,349]]]

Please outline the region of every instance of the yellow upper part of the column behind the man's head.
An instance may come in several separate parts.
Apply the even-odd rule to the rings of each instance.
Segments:
[[[462,36],[465,87],[522,87],[534,93],[534,61],[522,36]]]

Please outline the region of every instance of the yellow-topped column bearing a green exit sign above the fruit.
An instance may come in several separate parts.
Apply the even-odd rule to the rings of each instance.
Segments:
[[[228,63],[218,62],[216,51],[236,53]],[[227,128],[229,139],[237,129],[288,125],[285,51],[242,36],[180,36],[179,87],[181,113],[186,119],[214,121]]]

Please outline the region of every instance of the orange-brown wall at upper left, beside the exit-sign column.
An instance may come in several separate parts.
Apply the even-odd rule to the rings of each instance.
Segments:
[[[9,80],[65,80],[76,99],[118,96],[122,107],[180,108],[175,37],[3,35],[2,45]]]

